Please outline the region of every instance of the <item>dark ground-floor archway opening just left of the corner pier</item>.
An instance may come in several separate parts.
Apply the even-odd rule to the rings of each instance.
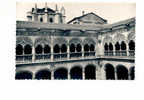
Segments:
[[[96,79],[96,68],[94,65],[85,67],[85,79]]]

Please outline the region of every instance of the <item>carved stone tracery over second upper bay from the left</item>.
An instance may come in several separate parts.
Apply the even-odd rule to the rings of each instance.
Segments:
[[[50,46],[51,41],[45,37],[40,37],[35,39],[34,46],[36,47],[37,45],[46,45],[48,44]]]

